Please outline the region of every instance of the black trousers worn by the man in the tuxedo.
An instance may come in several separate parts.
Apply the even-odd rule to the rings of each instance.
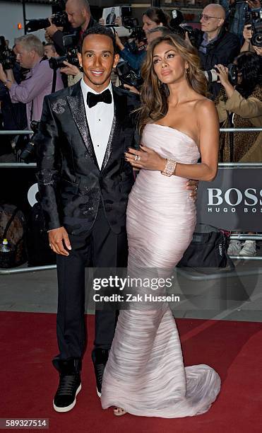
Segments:
[[[90,233],[69,238],[69,256],[57,255],[56,359],[61,360],[81,358],[85,352],[85,267],[126,267],[128,255],[126,231],[116,234],[110,229],[102,205]],[[116,324],[117,311],[95,312],[95,348],[111,347]]]

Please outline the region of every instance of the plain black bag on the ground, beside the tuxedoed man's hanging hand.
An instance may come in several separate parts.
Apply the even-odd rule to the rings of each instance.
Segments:
[[[28,266],[56,264],[56,254],[49,247],[48,234],[44,226],[44,212],[41,204],[37,202],[28,216]]]

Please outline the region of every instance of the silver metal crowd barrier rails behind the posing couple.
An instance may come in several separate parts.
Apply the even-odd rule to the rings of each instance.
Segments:
[[[220,132],[262,132],[261,128],[220,128]],[[1,131],[0,135],[22,135],[22,134],[33,134],[30,130],[10,130],[10,131]],[[0,163],[0,168],[36,168],[36,163]],[[242,167],[242,168],[262,168],[262,163],[219,163],[218,168],[234,168],[234,167]],[[235,240],[243,240],[247,239],[252,241],[262,241],[261,235],[248,235],[248,234],[232,234],[230,239]],[[230,256],[233,260],[262,260],[262,257],[250,257],[250,256],[239,256],[232,255]],[[0,275],[10,275],[10,274],[18,274],[25,272],[36,272],[40,270],[53,270],[56,269],[56,265],[46,265],[46,266],[37,266],[37,267],[16,267],[12,269],[0,269]],[[181,270],[179,272],[182,272]],[[256,271],[257,272],[257,271]],[[243,275],[246,275],[244,272]],[[227,277],[229,274],[227,274]],[[210,275],[211,277],[211,275]],[[222,277],[221,275],[218,277]]]

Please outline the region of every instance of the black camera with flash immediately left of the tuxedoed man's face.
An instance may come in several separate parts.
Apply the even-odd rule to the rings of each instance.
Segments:
[[[64,35],[63,36],[63,43],[64,47],[66,49],[66,55],[60,56],[60,57],[51,57],[49,59],[49,67],[51,69],[59,69],[65,67],[64,61],[69,62],[70,64],[73,64],[73,66],[76,66],[80,68],[79,62],[78,62],[78,37],[77,35]]]

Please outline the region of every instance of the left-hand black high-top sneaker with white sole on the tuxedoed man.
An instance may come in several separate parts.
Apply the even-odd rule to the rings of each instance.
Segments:
[[[53,401],[56,412],[69,412],[76,405],[76,396],[81,391],[79,366],[81,362],[76,359],[56,362],[59,369],[59,387]]]

